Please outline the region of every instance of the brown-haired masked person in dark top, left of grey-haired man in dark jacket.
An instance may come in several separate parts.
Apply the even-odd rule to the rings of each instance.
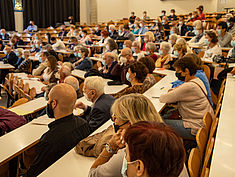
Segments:
[[[89,51],[87,48],[79,48],[78,61],[74,63],[76,69],[87,71],[93,67],[91,59],[88,57]]]

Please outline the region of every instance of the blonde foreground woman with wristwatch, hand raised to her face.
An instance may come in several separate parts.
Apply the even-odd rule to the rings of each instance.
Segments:
[[[125,130],[140,121],[162,122],[153,103],[142,94],[129,94],[120,97],[112,105],[111,113],[116,133],[93,163],[89,172],[90,177],[121,177],[125,156],[125,143],[123,143]],[[111,150],[115,153],[111,153]]]

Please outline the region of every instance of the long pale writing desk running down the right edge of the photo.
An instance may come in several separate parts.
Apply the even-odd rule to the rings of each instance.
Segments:
[[[235,77],[228,74],[216,133],[210,177],[235,176]]]

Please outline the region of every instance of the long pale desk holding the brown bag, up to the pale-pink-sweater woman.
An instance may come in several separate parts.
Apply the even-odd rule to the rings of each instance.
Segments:
[[[148,91],[146,91],[144,95],[153,102],[156,110],[160,112],[164,108],[165,104],[160,103],[158,98],[153,97],[158,97],[160,94],[166,93],[167,90],[171,88],[171,82],[175,81],[176,77],[174,71],[156,69],[154,72],[161,75],[165,75],[165,77],[157,84],[155,84],[152,88],[150,88]],[[162,87],[164,87],[165,89],[161,89]],[[101,132],[102,130],[106,129],[109,125],[111,125],[111,121],[108,121],[106,124],[101,126],[95,131],[95,133]],[[89,169],[94,161],[95,158],[79,155],[75,152],[74,149],[72,149],[39,176],[85,177],[88,176]]]

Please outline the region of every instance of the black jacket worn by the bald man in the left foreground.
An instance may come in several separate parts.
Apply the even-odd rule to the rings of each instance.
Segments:
[[[90,134],[87,122],[73,114],[53,121],[48,127],[37,144],[33,164],[24,177],[38,176]]]

